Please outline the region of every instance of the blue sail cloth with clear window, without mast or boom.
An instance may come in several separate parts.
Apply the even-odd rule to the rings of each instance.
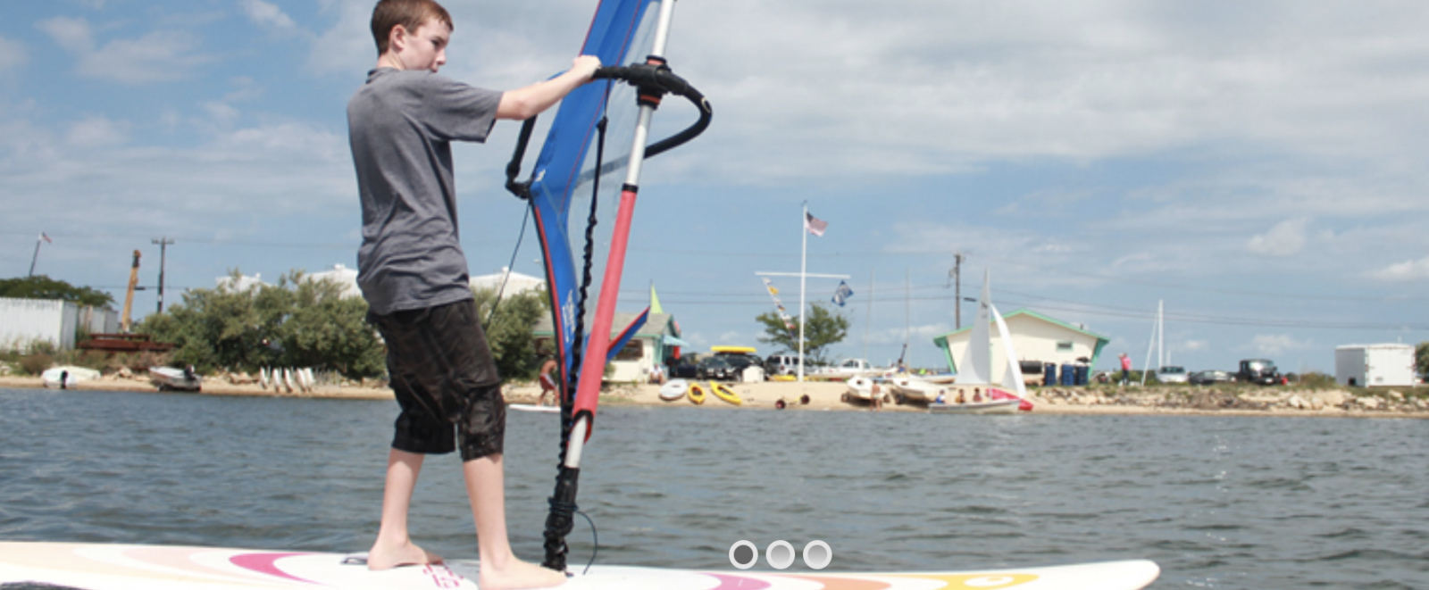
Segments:
[[[602,0],[580,53],[596,56],[606,66],[644,60],[659,3],[660,0]],[[573,351],[580,346],[576,343],[576,316],[582,279],[579,269],[583,264],[580,249],[584,246],[586,226],[586,211],[580,204],[589,207],[590,183],[597,177],[597,124],[603,117],[609,119],[604,164],[599,174],[600,199],[609,203],[623,181],[636,114],[634,91],[627,84],[613,80],[584,84],[562,100],[536,159],[530,206],[546,254],[546,284],[562,383],[570,383],[576,369],[572,364]],[[594,289],[592,286],[592,293]]]

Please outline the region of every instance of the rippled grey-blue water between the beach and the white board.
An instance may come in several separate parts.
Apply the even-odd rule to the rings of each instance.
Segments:
[[[4,540],[360,551],[377,530],[393,401],[0,390],[0,409]],[[554,437],[510,413],[527,559]],[[1423,420],[609,407],[579,500],[600,563],[732,570],[737,540],[817,539],[845,571],[1143,557],[1157,589],[1429,589],[1426,453]],[[427,460],[412,529],[474,556],[454,456]],[[589,559],[583,520],[570,540]]]

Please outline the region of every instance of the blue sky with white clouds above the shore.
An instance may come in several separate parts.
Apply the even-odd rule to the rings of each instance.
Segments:
[[[231,270],[354,267],[372,6],[0,6],[0,277],[34,260],[123,304],[133,250],[159,283],[159,239],[170,304]],[[447,7],[442,73],[514,89],[569,67],[594,3]],[[1429,340],[1425,30],[1419,1],[682,0],[667,57],[714,121],[644,167],[619,307],[654,284],[696,349],[773,353],[755,273],[799,271],[807,206],[829,223],[809,271],[855,291],[833,357],[940,366],[957,253],[965,297],[987,273],[1003,314],[1107,337],[1097,369],[1145,364],[1159,303],[1189,370],[1333,373],[1336,346]],[[656,134],[693,119],[669,103]],[[454,150],[472,274],[542,274],[502,189],[516,130]]]

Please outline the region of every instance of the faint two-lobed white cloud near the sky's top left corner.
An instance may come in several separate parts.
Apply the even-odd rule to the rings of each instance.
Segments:
[[[56,17],[39,24],[56,44],[79,59],[80,76],[141,84],[177,80],[211,59],[197,53],[199,39],[187,31],[153,31],[139,39],[116,39],[97,47],[84,19]]]

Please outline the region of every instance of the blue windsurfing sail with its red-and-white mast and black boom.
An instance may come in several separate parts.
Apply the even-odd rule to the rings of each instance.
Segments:
[[[704,97],[673,74],[663,57],[674,0],[600,0],[582,54],[596,56],[597,80],[562,101],[527,181],[517,181],[534,121],[522,127],[516,154],[506,169],[507,189],[527,199],[544,254],[546,284],[554,327],[562,401],[560,471],[546,520],[543,566],[564,570],[564,537],[576,510],[580,451],[589,439],[600,380],[612,347],[612,317],[620,290],[624,250],[644,159],[673,149],[709,126]],[[654,109],[666,94],[682,96],[699,120],[664,140],[646,144]],[[607,149],[609,146],[609,149]],[[596,260],[594,226],[599,203],[619,196],[609,253]],[[589,213],[584,213],[589,211]],[[576,249],[582,256],[577,257]],[[579,263],[577,263],[579,259]],[[600,297],[586,326],[586,297],[597,264],[603,266]],[[637,327],[626,327],[632,333]]]

